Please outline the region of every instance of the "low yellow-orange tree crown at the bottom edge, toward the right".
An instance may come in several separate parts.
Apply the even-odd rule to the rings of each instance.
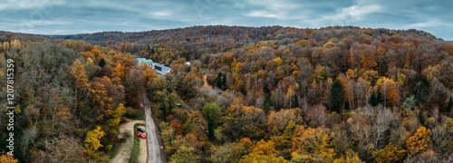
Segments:
[[[397,149],[391,143],[385,146],[384,149],[379,149],[372,152],[372,158],[374,162],[398,162],[406,153],[404,149]]]

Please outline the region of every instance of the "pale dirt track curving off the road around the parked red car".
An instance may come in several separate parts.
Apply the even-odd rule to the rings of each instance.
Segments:
[[[135,137],[135,133],[134,133],[134,125],[136,123],[145,123],[144,120],[130,120],[126,123],[123,123],[120,125],[120,133],[123,133],[123,132],[129,132],[130,133],[130,138],[126,139],[126,142],[124,142],[121,146],[120,146],[120,152],[116,155],[115,158],[112,158],[111,159],[111,163],[128,163],[129,160],[130,160],[130,152],[132,151],[132,148],[133,148],[133,140]],[[145,139],[142,139],[144,141],[146,141]],[[141,141],[141,140],[140,140]],[[144,146],[146,147],[146,142],[144,143]],[[146,148],[144,149],[141,149],[141,143],[140,143],[140,153],[142,152],[141,150],[145,150],[143,152],[147,152]],[[140,157],[140,156],[139,156]],[[143,159],[143,158],[141,158]],[[140,158],[139,158],[140,160]],[[144,156],[144,160],[143,162],[146,162],[146,155]]]

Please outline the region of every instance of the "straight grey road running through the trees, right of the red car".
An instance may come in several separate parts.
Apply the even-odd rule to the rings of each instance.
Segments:
[[[146,135],[148,141],[148,163],[163,163],[166,162],[163,146],[159,138],[159,132],[152,120],[151,108],[146,94],[143,94],[142,107],[145,110],[146,116]]]

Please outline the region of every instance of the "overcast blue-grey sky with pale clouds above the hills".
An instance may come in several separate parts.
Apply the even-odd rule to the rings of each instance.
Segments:
[[[451,0],[0,0],[0,30],[141,32],[225,24],[419,29],[453,40]]]

